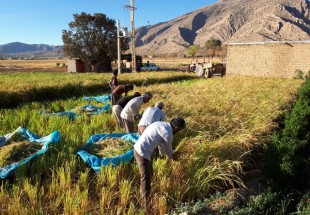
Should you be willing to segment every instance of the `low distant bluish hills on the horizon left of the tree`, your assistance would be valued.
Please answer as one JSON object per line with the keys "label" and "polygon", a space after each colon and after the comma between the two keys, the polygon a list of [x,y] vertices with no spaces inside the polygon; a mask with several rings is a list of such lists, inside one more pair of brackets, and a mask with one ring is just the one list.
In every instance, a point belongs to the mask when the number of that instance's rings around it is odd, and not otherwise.
{"label": "low distant bluish hills on the horizon left of the tree", "polygon": [[46,44],[25,44],[13,42],[0,45],[0,56],[13,57],[61,57],[62,46],[51,46]]}

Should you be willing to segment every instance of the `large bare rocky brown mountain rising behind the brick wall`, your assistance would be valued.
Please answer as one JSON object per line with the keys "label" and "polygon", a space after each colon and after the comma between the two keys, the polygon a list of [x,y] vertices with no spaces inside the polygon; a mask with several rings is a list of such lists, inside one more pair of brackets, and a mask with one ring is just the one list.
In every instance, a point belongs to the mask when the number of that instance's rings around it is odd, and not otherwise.
{"label": "large bare rocky brown mountain rising behind the brick wall", "polygon": [[309,0],[221,0],[136,30],[140,55],[182,54],[211,37],[227,42],[310,40]]}

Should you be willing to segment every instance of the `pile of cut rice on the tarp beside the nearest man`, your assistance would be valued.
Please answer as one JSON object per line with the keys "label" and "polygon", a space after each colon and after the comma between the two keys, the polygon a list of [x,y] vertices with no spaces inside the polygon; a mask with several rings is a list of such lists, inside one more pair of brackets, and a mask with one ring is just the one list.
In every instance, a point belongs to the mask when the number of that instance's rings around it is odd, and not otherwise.
{"label": "pile of cut rice on the tarp beside the nearest man", "polygon": [[98,157],[115,157],[132,149],[132,143],[122,138],[107,138],[91,145],[87,151]]}

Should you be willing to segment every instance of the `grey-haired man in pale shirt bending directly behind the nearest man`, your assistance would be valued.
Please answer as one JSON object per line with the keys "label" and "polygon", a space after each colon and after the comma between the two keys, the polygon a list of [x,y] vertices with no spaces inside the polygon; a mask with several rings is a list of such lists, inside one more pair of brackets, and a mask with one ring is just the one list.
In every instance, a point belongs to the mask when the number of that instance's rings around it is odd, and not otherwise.
{"label": "grey-haired man in pale shirt bending directly behind the nearest man", "polygon": [[157,121],[165,121],[166,116],[162,109],[164,108],[163,102],[156,102],[155,107],[148,107],[144,110],[142,118],[138,124],[138,132],[141,135],[147,126]]}

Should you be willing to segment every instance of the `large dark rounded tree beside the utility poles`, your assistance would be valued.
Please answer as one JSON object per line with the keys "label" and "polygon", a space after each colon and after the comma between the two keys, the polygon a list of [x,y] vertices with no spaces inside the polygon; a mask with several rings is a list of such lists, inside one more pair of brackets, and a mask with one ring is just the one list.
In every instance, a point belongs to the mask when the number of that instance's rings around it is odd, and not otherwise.
{"label": "large dark rounded tree beside the utility poles", "polygon": [[[98,67],[111,70],[111,61],[117,59],[117,27],[115,21],[106,15],[73,14],[70,30],[62,31],[64,54],[80,58],[91,65],[92,71]],[[122,50],[128,49],[126,38],[121,38]]]}

